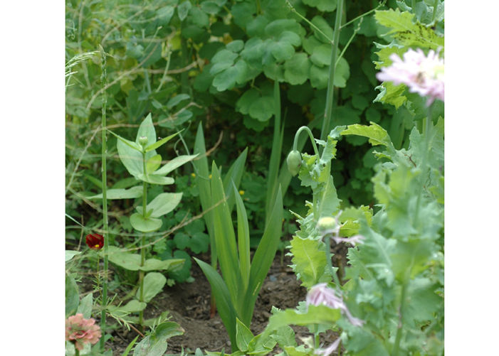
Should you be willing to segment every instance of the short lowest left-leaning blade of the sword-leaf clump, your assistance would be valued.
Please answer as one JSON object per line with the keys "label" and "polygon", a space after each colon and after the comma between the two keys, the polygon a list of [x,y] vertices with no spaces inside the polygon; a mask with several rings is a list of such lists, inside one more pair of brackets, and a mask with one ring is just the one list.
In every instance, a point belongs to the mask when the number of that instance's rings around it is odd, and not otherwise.
{"label": "short lowest left-leaning blade of the sword-leaf clump", "polygon": [[213,291],[216,300],[216,310],[219,311],[220,318],[224,323],[224,326],[229,334],[232,345],[237,345],[236,341],[236,309],[231,301],[231,296],[229,294],[229,289],[227,288],[224,280],[218,274],[218,272],[206,264],[204,261],[196,259],[194,260],[199,264],[199,267],[203,271],[206,279],[208,279],[211,286],[211,291]]}

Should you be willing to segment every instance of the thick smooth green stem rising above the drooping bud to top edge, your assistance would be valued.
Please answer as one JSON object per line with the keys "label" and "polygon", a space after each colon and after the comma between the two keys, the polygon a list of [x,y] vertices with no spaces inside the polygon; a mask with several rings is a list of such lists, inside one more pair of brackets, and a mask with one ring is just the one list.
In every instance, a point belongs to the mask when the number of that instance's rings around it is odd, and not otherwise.
{"label": "thick smooth green stem rising above the drooping bud to top edge", "polygon": [[336,54],[338,51],[338,42],[340,41],[340,23],[342,21],[343,0],[338,0],[336,7],[335,33],[332,36],[331,63],[329,68],[329,80],[327,80],[327,95],[326,108],[324,112],[324,120],[322,120],[322,129],[320,131],[320,139],[325,140],[330,128],[332,116],[332,102],[335,96],[335,73],[336,73]]}

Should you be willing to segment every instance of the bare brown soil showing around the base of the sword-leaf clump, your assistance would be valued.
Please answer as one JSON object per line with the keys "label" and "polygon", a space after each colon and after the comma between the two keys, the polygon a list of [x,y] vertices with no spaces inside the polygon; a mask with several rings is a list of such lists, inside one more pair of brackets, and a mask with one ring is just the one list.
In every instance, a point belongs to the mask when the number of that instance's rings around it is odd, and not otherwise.
{"label": "bare brown soil showing around the base of the sword-leaf clump", "polygon": [[[209,261],[209,254],[197,257]],[[295,308],[298,302],[305,300],[307,290],[300,286],[300,281],[296,279],[290,264],[292,264],[290,257],[283,257],[280,252],[275,255],[256,300],[251,321],[253,335],[261,333],[266,328],[273,306],[280,309]],[[165,287],[162,293],[155,296],[145,310],[145,318],[155,318],[164,311],[169,311],[169,320],[178,323],[184,329],[183,335],[169,338],[167,355],[180,355],[182,350],[184,355],[194,354],[198,347],[202,351],[230,352],[229,335],[220,316],[217,313],[214,318],[210,318],[210,285],[196,263],[192,264],[191,276],[194,278],[193,282]],[[298,345],[303,344],[301,339],[312,336],[306,327],[291,326],[295,330]],[[109,331],[112,333],[112,340],[106,342],[106,349],[111,347],[113,355],[122,355],[127,345],[137,335],[134,330],[129,331],[125,327]],[[329,331],[321,335],[321,343],[329,345],[336,338],[337,334]],[[280,352],[282,350],[276,345],[273,352],[268,355],[277,355]]]}

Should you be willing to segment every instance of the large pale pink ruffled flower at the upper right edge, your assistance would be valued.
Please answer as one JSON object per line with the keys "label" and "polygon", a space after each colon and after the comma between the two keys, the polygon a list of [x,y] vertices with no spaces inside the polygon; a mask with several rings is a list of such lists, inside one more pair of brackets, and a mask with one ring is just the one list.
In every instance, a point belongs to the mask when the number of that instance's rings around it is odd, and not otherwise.
{"label": "large pale pink ruffled flower at the upper right edge", "polygon": [[421,48],[409,49],[404,53],[404,60],[395,53],[389,58],[393,63],[377,73],[378,80],[394,82],[394,85],[404,83],[409,87],[409,92],[428,97],[426,105],[435,99],[443,101],[443,59],[438,58],[438,52],[430,50],[426,56]]}

